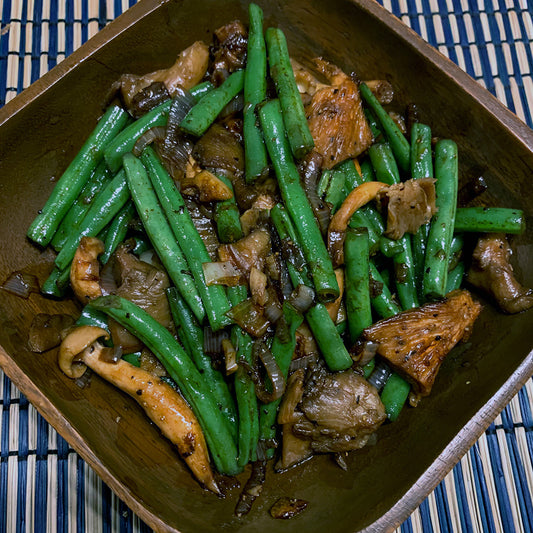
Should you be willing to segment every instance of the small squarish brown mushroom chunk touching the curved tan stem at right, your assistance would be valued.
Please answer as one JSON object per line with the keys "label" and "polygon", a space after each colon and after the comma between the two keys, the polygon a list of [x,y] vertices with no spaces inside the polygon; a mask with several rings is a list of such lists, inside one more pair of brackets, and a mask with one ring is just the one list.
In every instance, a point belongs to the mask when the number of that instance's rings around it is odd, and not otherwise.
{"label": "small squarish brown mushroom chunk touching the curved tan stem at right", "polygon": [[382,189],[376,201],[387,212],[385,235],[401,239],[405,233],[416,233],[436,213],[433,178],[407,180]]}

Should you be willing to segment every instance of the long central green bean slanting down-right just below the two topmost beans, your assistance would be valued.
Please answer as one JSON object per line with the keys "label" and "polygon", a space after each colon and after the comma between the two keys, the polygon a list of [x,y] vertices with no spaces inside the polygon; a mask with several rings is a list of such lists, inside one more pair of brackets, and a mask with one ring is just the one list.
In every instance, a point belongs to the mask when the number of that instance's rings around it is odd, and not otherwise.
{"label": "long central green bean slanting down-right just below the two topmost beans", "polygon": [[300,175],[285,135],[279,102],[271,100],[263,105],[259,116],[267,150],[278,178],[281,197],[300,237],[318,299],[335,300],[339,296],[337,278],[313,210],[300,184]]}

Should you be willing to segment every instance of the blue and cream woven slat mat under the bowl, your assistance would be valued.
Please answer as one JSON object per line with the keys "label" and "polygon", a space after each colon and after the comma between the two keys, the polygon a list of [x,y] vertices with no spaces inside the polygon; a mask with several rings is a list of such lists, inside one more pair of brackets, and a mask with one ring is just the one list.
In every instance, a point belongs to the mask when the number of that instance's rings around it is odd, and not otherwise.
{"label": "blue and cream woven slat mat under the bowl", "polygon": [[[381,0],[533,126],[530,0]],[[135,0],[0,0],[0,106]],[[0,373],[0,533],[150,531]],[[533,530],[530,381],[402,532]]]}

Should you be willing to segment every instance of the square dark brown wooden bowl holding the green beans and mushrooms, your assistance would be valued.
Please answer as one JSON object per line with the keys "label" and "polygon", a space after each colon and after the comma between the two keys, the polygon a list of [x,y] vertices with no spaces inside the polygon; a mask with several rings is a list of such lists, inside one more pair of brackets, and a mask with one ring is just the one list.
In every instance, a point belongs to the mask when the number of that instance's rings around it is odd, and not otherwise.
{"label": "square dark brown wooden bowl holding the green beans and mushrooms", "polygon": [[[514,239],[519,275],[533,285],[533,133],[488,92],[372,0],[260,2],[266,22],[286,31],[292,55],[323,55],[363,79],[386,77],[399,105],[416,102],[435,135],[455,139],[462,174],[481,171],[485,201],[523,209],[526,235]],[[15,270],[43,281],[52,255],[25,232],[92,130],[111,83],[123,72],[171,64],[196,39],[241,18],[247,2],[144,0],[0,110],[0,281]],[[245,518],[199,488],[140,409],[93,377],[78,388],[56,354],[26,348],[37,312],[74,312],[72,302],[0,291],[0,364],[44,417],[106,483],[159,531],[385,531],[399,525],[460,459],[533,373],[532,313],[507,316],[490,304],[468,344],[445,361],[433,394],[383,427],[376,446],[354,453],[347,472],[326,457],[285,474],[269,471]],[[528,355],[529,354],[529,355]],[[268,514],[279,496],[303,498],[292,521]]]}

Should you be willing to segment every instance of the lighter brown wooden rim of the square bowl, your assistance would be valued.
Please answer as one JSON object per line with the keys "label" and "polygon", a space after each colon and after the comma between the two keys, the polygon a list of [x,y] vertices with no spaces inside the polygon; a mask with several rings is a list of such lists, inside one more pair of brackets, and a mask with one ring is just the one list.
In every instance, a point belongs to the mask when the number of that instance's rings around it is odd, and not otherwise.
{"label": "lighter brown wooden rim of the square bowl", "polygon": [[[134,6],[110,22],[71,55],[61,61],[61,63],[0,108],[0,127],[16,116],[20,110],[38,99],[65,75],[75,70],[80,63],[90,59],[103,46],[128,30],[141,18],[174,1],[176,0],[139,0]],[[521,144],[524,149],[533,152],[533,130],[458,65],[433,48],[414,30],[406,26],[377,1],[346,1],[384,23],[415,53],[423,55],[432,66],[436,67],[442,74],[461,86],[467,94],[475,98],[488,113],[506,128],[515,138],[515,141]],[[146,508],[140,498],[136,497],[127,486],[114,477],[108,467],[102,463],[98,456],[85,443],[83,436],[68,423],[61,411],[40,392],[32,379],[22,372],[16,361],[2,346],[0,346],[0,367],[2,367],[5,374],[28,398],[45,420],[67,440],[72,448],[95,470],[98,476],[133,512],[156,531],[174,533],[179,531],[169,526],[150,509]],[[360,533],[389,532],[401,525],[461,460],[465,453],[489,427],[494,418],[505,408],[512,397],[517,394],[532,375],[533,349],[500,387],[497,393],[470,418],[426,471],[407,489],[400,500],[374,523],[360,530]]]}

